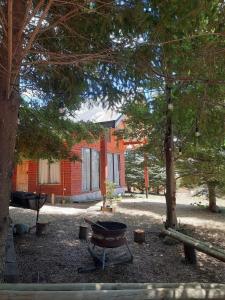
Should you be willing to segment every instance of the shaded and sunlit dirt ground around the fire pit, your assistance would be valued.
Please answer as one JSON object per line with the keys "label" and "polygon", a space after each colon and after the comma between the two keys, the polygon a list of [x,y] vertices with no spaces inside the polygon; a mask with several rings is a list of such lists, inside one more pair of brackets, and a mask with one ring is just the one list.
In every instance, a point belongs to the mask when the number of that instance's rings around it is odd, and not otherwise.
{"label": "shaded and sunlit dirt ground around the fire pit", "polygon": [[[201,203],[199,203],[201,201]],[[179,223],[193,230],[192,235],[225,249],[225,212],[210,213],[207,202],[191,197],[189,192],[177,195]],[[219,201],[225,211],[225,201]],[[99,211],[101,203],[70,206],[45,205],[40,221],[49,222],[46,234],[37,237],[34,231],[15,237],[15,247],[21,282],[225,282],[225,264],[199,253],[197,266],[182,262],[181,244],[165,245],[159,237],[165,220],[165,198],[149,196],[126,198],[115,214]],[[14,223],[34,225],[35,212],[11,208]],[[127,238],[133,253],[133,263],[108,267],[104,271],[79,273],[80,267],[92,267],[93,259],[87,243],[78,239],[83,218],[116,220],[128,226]],[[146,231],[146,243],[133,242],[133,231]],[[122,249],[117,248],[116,251]],[[108,250],[109,257],[113,254]]]}

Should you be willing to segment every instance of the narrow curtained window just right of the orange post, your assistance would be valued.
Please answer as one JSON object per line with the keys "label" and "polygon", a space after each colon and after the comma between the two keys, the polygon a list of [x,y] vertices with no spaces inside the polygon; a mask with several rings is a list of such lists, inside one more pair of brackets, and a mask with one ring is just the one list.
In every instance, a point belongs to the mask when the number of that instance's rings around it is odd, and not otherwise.
{"label": "narrow curtained window just right of the orange post", "polygon": [[107,180],[120,185],[120,155],[107,153]]}

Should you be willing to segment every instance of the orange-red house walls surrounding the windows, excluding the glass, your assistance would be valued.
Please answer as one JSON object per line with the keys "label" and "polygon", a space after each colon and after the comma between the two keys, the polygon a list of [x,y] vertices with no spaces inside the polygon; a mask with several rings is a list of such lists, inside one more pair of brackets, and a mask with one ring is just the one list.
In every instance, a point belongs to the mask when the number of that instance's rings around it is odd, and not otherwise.
{"label": "orange-red house walls surrounding the windows, excluding the glass", "polygon": [[[107,152],[120,154],[120,187],[125,187],[125,159],[123,141],[117,141],[113,135],[115,129],[110,129],[109,141],[107,142]],[[100,151],[100,140],[88,144],[83,141],[72,147],[72,152],[81,158],[82,148],[91,148]],[[61,181],[59,184],[39,184],[38,183],[38,161],[29,161],[28,166],[28,191],[36,193],[55,194],[57,196],[72,196],[73,200],[77,195],[79,199],[91,199],[101,197],[100,191],[89,193],[82,192],[82,163],[81,161],[70,162],[61,161]],[[16,190],[16,170],[13,176],[13,190]],[[92,194],[92,195],[90,195]],[[77,199],[77,200],[79,200]]]}

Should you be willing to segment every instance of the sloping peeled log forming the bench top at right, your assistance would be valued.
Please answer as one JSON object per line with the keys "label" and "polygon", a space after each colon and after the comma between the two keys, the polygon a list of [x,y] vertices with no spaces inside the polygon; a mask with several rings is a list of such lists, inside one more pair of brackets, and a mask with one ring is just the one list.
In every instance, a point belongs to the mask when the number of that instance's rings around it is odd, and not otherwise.
{"label": "sloping peeled log forming the bench top at right", "polygon": [[201,242],[171,228],[164,230],[164,233],[168,236],[173,237],[174,239],[181,241],[186,245],[194,247],[200,252],[206,253],[218,260],[225,262],[225,251],[219,247],[215,247],[210,243]]}

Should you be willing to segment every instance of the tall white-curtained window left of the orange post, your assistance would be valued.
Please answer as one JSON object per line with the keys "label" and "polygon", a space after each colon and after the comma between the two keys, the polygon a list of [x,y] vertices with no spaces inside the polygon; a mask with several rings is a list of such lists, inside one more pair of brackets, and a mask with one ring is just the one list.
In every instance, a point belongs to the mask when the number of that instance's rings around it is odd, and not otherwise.
{"label": "tall white-curtained window left of the orange post", "polygon": [[99,189],[99,152],[82,149],[82,191]]}

